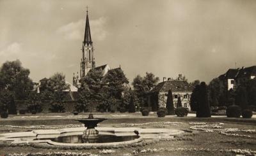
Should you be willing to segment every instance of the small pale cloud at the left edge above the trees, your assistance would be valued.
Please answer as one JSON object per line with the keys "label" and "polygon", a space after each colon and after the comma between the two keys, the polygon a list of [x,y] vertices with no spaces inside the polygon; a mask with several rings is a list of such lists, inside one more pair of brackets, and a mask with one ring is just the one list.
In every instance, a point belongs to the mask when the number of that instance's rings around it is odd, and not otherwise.
{"label": "small pale cloud at the left edge above the trees", "polygon": [[21,52],[21,44],[14,42],[2,50],[0,50],[0,56],[10,56],[10,55],[17,55]]}

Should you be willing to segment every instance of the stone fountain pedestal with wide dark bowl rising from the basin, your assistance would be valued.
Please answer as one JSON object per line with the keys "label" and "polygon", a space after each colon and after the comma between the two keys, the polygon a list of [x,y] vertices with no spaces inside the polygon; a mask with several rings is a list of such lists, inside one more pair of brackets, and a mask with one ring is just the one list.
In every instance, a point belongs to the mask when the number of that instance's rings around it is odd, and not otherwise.
{"label": "stone fountain pedestal with wide dark bowl rising from the basin", "polygon": [[97,138],[99,136],[99,131],[95,129],[97,124],[107,120],[106,118],[93,118],[93,114],[89,114],[88,118],[79,118],[77,121],[84,124],[84,127],[87,127],[86,130],[83,131],[83,142],[84,143],[95,143],[97,142]]}

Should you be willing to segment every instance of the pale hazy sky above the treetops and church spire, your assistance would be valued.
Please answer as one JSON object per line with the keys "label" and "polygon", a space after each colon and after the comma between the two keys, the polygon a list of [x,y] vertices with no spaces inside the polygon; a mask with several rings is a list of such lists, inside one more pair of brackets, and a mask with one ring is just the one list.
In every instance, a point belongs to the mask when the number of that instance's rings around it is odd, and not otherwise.
{"label": "pale hazy sky above the treetops and church spire", "polygon": [[72,82],[82,56],[86,6],[96,66],[133,78],[185,75],[209,82],[256,65],[253,0],[0,0],[0,66],[19,59],[34,82]]}

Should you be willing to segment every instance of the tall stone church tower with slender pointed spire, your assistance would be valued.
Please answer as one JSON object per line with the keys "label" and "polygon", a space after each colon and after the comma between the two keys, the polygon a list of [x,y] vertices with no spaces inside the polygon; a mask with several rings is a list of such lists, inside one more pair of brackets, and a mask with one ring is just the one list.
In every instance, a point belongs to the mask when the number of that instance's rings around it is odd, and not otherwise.
{"label": "tall stone church tower with slender pointed spire", "polygon": [[82,47],[83,56],[81,59],[80,77],[86,76],[90,69],[95,68],[95,59],[93,57],[93,43],[90,31],[88,10],[86,10],[86,24],[84,31],[84,41]]}

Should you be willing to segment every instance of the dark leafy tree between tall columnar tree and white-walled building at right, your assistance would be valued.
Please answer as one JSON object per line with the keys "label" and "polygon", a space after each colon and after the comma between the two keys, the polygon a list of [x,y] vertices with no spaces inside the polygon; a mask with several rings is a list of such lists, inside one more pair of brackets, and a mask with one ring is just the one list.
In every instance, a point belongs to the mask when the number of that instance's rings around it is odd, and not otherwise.
{"label": "dark leafy tree between tall columnar tree and white-walled building at right", "polygon": [[221,95],[223,95],[224,90],[225,87],[219,78],[214,78],[213,80],[211,80],[208,85],[210,106],[220,105]]}

